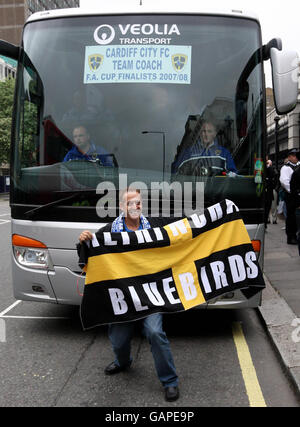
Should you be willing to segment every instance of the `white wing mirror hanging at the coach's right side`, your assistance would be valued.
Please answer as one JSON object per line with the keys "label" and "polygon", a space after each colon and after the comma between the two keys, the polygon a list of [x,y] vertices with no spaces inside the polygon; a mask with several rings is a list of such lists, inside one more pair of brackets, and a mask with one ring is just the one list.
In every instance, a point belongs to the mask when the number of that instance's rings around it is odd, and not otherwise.
{"label": "white wing mirror hanging at the coach's right side", "polygon": [[297,104],[298,67],[297,52],[271,48],[274,100],[277,114],[287,114]]}

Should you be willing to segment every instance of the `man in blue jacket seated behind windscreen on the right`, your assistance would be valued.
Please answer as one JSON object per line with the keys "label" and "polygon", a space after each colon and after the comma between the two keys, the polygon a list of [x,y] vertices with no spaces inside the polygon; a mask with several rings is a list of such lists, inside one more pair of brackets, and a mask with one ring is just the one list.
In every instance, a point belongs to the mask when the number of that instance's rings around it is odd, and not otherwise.
{"label": "man in blue jacket seated behind windscreen on the right", "polygon": [[172,173],[184,175],[216,175],[223,171],[237,173],[229,151],[218,144],[217,130],[212,121],[204,121],[200,139],[191,147],[178,153],[171,166]]}

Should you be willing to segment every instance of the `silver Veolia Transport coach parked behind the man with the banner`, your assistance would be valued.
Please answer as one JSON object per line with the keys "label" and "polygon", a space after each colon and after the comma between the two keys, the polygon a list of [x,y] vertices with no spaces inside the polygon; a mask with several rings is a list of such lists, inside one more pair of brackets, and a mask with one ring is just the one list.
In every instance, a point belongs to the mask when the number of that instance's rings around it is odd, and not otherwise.
{"label": "silver Veolia Transport coach parked behind the man with the banner", "polygon": [[[255,14],[164,0],[43,11],[28,18],[20,46],[1,41],[0,54],[18,61],[10,188],[15,298],[80,304],[75,244],[82,230],[96,231],[118,214],[121,181],[138,182],[155,215],[164,215],[169,201],[171,218],[184,199],[175,183],[183,193],[189,188],[191,209],[201,191],[204,207],[232,200],[262,265],[263,64],[271,60],[276,109],[284,114],[296,104],[298,60],[280,39],[262,44]],[[208,118],[218,166],[199,153],[180,163]],[[238,291],[208,307],[256,307],[260,299]]]}

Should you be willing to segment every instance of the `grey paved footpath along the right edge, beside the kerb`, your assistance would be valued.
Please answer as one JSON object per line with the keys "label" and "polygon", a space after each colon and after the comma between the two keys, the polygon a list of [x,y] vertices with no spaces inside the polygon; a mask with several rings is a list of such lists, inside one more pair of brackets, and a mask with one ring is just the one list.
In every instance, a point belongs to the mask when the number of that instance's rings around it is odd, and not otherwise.
{"label": "grey paved footpath along the right edge, beside the kerb", "polygon": [[285,373],[300,397],[300,256],[288,245],[285,222],[268,224],[265,236],[263,291],[259,312]]}

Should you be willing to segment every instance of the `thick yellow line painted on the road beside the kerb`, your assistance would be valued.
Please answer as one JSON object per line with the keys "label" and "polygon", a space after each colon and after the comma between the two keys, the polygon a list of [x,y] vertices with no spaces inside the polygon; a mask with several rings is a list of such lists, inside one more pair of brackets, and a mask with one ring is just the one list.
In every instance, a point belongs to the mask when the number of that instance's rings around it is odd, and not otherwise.
{"label": "thick yellow line painted on the road beside the kerb", "polygon": [[239,322],[232,324],[232,333],[250,406],[266,407],[249,347],[243,334],[242,325]]}

